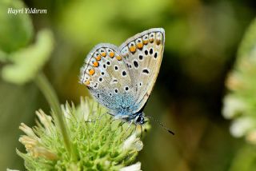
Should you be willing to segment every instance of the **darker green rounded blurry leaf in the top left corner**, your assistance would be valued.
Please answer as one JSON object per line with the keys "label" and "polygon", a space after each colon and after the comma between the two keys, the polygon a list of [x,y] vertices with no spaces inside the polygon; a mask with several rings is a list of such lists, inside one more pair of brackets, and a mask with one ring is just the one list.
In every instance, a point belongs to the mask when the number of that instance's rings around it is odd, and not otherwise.
{"label": "darker green rounded blurry leaf in the top left corner", "polygon": [[0,50],[10,53],[26,46],[33,38],[33,25],[29,14],[8,14],[8,10],[23,9],[19,0],[0,1]]}

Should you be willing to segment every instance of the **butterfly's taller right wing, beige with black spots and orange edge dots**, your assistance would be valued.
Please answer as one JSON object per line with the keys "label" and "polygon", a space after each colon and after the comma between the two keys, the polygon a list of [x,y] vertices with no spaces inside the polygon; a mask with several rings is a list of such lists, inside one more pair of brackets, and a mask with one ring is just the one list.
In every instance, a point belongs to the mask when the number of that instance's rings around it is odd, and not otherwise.
{"label": "butterfly's taller right wing, beige with black spots and orange edge dots", "polygon": [[162,28],[146,30],[119,47],[135,89],[134,112],[146,104],[158,77],[165,43]]}

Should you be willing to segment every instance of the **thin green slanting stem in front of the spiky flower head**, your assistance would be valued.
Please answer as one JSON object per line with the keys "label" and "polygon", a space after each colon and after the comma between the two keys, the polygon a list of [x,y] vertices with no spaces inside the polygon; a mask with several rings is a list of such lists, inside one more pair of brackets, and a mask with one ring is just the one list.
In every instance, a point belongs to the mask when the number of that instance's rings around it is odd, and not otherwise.
{"label": "thin green slanting stem in front of the spiky flower head", "polygon": [[60,107],[58,97],[57,97],[52,85],[50,85],[50,82],[46,78],[46,75],[43,73],[39,73],[36,76],[34,82],[36,83],[36,85],[38,85],[38,88],[42,91],[42,93],[46,97],[46,100],[48,101],[50,107],[52,108],[52,110],[53,110],[52,115],[54,118],[56,118],[56,120],[58,122],[57,126],[62,133],[62,137],[63,137],[63,141],[64,141],[64,145],[66,147],[66,150],[68,151],[70,156],[73,157],[75,160],[76,155],[74,153],[73,146],[70,142],[69,133],[67,132],[67,129],[66,129],[66,123],[65,123],[65,120],[63,119],[62,109]]}

